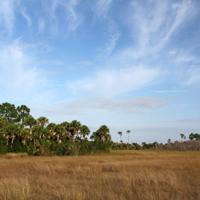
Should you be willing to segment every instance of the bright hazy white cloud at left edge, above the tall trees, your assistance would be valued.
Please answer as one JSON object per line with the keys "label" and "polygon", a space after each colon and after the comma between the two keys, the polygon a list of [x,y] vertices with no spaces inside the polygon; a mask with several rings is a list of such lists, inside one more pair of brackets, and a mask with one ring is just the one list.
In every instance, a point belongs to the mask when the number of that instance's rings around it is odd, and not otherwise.
{"label": "bright hazy white cloud at left edge, above the tall trees", "polygon": [[46,73],[36,65],[37,58],[31,52],[20,41],[0,45],[0,101],[20,100],[31,104],[48,90]]}

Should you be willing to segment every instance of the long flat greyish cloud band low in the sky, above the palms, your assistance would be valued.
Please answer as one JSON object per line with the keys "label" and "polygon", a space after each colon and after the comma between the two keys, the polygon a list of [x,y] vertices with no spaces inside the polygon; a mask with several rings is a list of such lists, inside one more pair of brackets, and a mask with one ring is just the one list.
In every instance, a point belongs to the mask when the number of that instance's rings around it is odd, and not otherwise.
{"label": "long flat greyish cloud band low in the sky, above the palms", "polygon": [[167,105],[167,102],[156,97],[137,97],[131,99],[111,98],[84,98],[67,100],[47,109],[47,112],[61,115],[79,115],[103,111],[107,113],[138,113],[147,110],[159,109]]}

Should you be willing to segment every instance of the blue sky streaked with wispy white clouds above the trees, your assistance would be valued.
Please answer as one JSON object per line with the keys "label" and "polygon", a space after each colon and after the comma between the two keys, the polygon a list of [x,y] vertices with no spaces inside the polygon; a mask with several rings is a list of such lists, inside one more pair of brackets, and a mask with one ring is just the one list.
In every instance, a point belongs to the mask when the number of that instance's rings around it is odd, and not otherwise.
{"label": "blue sky streaked with wispy white clouds above the trees", "polygon": [[112,139],[200,131],[199,0],[0,0],[0,103]]}

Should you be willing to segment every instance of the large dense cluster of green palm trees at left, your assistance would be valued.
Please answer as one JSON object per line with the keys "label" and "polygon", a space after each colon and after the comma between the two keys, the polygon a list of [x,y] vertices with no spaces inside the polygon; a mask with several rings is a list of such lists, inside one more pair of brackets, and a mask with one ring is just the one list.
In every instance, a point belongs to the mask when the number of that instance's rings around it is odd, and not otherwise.
{"label": "large dense cluster of green palm trees at left", "polygon": [[102,125],[90,135],[90,129],[77,120],[50,123],[46,117],[35,119],[25,105],[0,104],[1,153],[77,155],[108,151],[112,143],[109,132]]}

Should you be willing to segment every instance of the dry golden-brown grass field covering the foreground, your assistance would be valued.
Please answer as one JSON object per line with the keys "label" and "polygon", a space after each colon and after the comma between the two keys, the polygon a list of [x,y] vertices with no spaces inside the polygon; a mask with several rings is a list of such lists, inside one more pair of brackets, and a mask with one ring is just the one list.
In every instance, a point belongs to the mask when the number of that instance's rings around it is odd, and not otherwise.
{"label": "dry golden-brown grass field covering the foreground", "polygon": [[0,157],[0,199],[200,199],[200,152]]}

